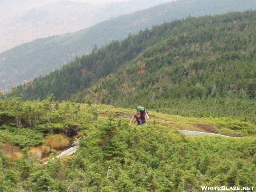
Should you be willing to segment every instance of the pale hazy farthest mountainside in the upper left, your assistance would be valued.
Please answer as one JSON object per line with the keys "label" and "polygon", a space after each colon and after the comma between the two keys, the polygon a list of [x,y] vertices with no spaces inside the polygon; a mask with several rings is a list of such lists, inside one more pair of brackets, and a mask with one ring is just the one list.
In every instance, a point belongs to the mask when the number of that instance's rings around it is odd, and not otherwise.
{"label": "pale hazy farthest mountainside in the upper left", "polygon": [[87,28],[171,0],[0,1],[0,52],[36,38]]}

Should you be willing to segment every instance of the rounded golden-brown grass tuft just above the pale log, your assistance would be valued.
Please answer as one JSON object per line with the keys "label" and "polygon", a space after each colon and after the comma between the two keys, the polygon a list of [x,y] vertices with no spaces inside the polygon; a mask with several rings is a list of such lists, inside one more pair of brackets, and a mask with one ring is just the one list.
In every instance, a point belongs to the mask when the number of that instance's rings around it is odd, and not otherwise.
{"label": "rounded golden-brown grass tuft just above the pale log", "polygon": [[70,143],[70,139],[61,134],[50,135],[44,141],[49,147],[55,149],[63,149]]}

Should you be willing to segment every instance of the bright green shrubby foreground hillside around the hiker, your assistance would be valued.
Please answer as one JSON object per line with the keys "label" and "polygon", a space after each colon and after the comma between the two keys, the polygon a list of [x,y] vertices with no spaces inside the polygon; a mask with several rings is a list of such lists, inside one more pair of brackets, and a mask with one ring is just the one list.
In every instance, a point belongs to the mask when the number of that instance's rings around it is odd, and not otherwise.
{"label": "bright green shrubby foreground hillside around the hiker", "polygon": [[[188,118],[22,98],[0,99],[0,191],[200,192],[201,186],[256,186],[256,126],[233,118]],[[178,130],[232,137],[186,137]],[[72,146],[73,156],[51,160]],[[47,165],[43,162],[49,160]]]}

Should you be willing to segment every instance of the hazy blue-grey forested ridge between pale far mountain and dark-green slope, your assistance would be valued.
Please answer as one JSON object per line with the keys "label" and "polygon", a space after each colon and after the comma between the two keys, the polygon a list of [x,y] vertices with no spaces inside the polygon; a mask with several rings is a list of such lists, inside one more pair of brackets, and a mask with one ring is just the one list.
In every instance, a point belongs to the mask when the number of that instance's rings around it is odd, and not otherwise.
{"label": "hazy blue-grey forested ridge between pale far mountain and dark-green slope", "polygon": [[255,0],[177,0],[130,15],[99,23],[75,33],[38,39],[0,54],[0,89],[12,86],[60,68],[76,54],[88,54],[112,40],[152,25],[184,17],[256,9]]}

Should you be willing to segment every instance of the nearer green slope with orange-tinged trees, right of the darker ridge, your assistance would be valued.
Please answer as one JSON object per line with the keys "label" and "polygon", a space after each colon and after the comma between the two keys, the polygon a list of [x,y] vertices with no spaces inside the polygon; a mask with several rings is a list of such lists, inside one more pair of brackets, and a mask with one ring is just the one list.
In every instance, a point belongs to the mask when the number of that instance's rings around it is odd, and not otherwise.
{"label": "nearer green slope with orange-tinged trees, right of the darker ridge", "polygon": [[116,106],[143,104],[167,113],[247,116],[256,122],[255,18],[256,12],[188,18],[183,32],[173,29],[72,99],[84,102],[96,93],[97,101]]}

